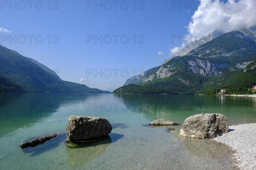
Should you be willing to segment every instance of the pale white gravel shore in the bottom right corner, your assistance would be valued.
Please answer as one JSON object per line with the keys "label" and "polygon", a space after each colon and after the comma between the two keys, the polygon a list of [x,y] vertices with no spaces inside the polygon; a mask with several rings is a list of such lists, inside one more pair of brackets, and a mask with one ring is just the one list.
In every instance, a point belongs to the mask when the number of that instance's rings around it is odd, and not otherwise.
{"label": "pale white gravel shore in the bottom right corner", "polygon": [[234,163],[241,170],[256,170],[256,123],[229,126],[229,132],[213,138],[232,147]]}

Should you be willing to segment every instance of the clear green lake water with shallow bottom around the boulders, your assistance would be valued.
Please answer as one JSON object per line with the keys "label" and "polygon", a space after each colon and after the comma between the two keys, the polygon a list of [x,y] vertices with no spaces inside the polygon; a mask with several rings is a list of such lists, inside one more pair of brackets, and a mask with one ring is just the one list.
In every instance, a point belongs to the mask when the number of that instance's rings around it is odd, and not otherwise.
{"label": "clear green lake water with shallow bottom around the boulders", "polygon": [[[182,124],[198,113],[222,113],[229,125],[256,122],[256,98],[112,94],[0,94],[0,169],[233,169],[232,151],[149,127],[155,119]],[[69,148],[63,133],[27,149],[35,136],[64,132],[69,116],[99,116],[113,124],[110,137]]]}

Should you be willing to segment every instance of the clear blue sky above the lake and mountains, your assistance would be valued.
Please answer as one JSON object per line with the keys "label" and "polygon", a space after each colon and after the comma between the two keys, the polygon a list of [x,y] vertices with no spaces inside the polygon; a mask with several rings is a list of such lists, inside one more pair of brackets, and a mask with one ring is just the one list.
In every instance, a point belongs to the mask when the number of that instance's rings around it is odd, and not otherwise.
{"label": "clear blue sky above the lake and mountains", "polygon": [[[208,6],[198,17],[199,1],[171,0],[42,0],[31,4],[1,0],[0,5],[1,45],[58,70],[63,80],[109,91],[135,74],[160,65],[186,44],[174,40],[174,36],[207,35],[211,29],[201,31],[197,24],[207,23],[200,21],[200,15],[214,16],[221,11]],[[232,16],[234,11],[230,9],[229,13]],[[217,17],[219,20],[224,19]],[[236,22],[228,26],[235,28]],[[251,21],[244,21],[242,26],[248,23]]]}

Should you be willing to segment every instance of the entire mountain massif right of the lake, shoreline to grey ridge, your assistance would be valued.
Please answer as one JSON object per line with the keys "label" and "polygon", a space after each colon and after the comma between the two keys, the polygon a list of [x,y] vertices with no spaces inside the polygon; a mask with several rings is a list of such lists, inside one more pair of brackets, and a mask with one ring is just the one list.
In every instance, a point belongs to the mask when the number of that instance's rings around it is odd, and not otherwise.
{"label": "entire mountain massif right of the lake, shoreline to grey ridge", "polygon": [[[113,93],[204,94],[220,88],[227,88],[230,93],[247,92],[256,85],[255,37],[255,26],[225,34],[215,31],[189,43],[162,65],[127,79],[124,86]],[[239,81],[243,78],[250,81]]]}

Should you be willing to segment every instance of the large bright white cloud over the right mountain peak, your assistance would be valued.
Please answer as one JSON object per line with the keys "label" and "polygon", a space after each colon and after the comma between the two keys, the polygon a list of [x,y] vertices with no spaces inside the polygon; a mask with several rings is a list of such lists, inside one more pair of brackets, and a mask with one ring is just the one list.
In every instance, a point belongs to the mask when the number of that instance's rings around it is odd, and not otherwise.
{"label": "large bright white cloud over the right mountain peak", "polygon": [[229,32],[256,25],[255,0],[201,0],[186,28],[190,35],[208,35],[218,30]]}

